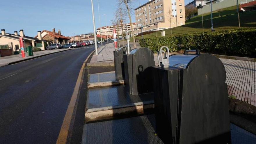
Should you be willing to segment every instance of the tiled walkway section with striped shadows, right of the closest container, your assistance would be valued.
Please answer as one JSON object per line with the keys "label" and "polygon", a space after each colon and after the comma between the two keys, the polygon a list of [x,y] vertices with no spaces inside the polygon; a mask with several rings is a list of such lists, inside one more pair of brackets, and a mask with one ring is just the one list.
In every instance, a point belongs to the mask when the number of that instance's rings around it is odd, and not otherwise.
{"label": "tiled walkway section with striped shadows, right of the closest container", "polygon": [[228,94],[256,106],[256,62],[220,58],[226,69]]}

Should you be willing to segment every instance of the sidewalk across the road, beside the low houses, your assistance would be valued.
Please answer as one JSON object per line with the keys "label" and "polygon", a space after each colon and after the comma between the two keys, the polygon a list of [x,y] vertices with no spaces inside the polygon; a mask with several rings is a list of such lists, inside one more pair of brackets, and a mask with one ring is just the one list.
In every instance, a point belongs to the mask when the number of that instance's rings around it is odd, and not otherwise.
{"label": "sidewalk across the road, beside the low houses", "polygon": [[[71,49],[73,49],[73,48],[71,48]],[[34,54],[33,56],[28,56],[28,53],[26,53],[25,58],[22,58],[21,54],[16,54],[16,55],[12,55],[12,56],[3,56],[3,57],[0,57],[0,67],[6,66],[9,64],[13,64],[13,63],[26,61],[26,60],[33,59],[33,58],[37,58],[40,56],[54,54],[54,53],[61,52],[61,51],[67,51],[67,50],[70,50],[70,49],[53,49],[53,50],[36,51],[36,52],[33,52],[33,54]]]}

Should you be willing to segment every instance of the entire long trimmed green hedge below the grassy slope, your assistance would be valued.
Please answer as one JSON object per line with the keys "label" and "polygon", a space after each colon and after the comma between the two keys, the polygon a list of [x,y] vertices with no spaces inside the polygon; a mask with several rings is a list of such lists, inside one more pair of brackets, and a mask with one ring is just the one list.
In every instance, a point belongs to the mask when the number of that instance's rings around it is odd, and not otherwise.
{"label": "entire long trimmed green hedge below the grassy slope", "polygon": [[153,52],[162,46],[172,47],[175,51],[177,44],[181,44],[185,49],[200,49],[207,53],[256,57],[256,28],[147,38],[139,42],[141,47],[148,47]]}

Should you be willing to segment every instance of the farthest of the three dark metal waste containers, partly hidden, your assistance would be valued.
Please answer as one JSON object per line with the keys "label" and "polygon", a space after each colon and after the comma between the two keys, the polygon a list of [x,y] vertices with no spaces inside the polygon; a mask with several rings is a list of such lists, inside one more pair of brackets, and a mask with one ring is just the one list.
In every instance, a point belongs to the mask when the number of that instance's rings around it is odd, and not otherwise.
{"label": "farthest of the three dark metal waste containers, partly hidden", "polygon": [[127,53],[127,46],[120,47],[117,51],[113,52],[115,64],[115,77],[117,77],[118,79],[125,79],[123,55]]}

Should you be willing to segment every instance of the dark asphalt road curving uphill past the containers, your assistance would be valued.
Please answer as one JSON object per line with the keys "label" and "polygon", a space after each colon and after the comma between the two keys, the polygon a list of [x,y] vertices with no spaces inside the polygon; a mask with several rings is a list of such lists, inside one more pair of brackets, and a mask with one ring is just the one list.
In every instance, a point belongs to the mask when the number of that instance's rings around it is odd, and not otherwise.
{"label": "dark asphalt road curving uphill past the containers", "polygon": [[93,50],[90,45],[0,67],[0,143],[56,143]]}

